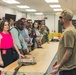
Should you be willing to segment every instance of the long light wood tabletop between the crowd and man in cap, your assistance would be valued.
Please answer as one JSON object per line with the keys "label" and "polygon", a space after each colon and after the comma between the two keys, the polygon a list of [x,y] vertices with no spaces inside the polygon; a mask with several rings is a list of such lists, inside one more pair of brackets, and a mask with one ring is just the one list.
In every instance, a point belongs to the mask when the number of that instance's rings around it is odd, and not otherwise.
{"label": "long light wood tabletop between the crowd and man in cap", "polygon": [[[28,57],[35,57],[37,64],[22,66],[17,75],[45,75],[54,56],[57,53],[58,42],[50,42],[42,45],[43,48],[37,48],[30,52]],[[5,67],[2,72],[5,75],[13,75],[14,69],[18,66],[17,61]]]}

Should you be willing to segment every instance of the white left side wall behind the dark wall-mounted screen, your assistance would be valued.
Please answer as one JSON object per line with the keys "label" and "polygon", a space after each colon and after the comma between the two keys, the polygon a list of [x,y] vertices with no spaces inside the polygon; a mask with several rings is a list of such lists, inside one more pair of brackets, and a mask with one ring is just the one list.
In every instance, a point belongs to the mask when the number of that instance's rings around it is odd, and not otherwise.
{"label": "white left side wall behind the dark wall-mounted screen", "polygon": [[1,18],[4,17],[5,13],[16,15],[16,20],[18,20],[22,17],[26,17],[25,13],[22,13],[18,10],[14,10],[14,9],[11,9],[11,8],[8,8],[8,7],[5,7],[5,6],[0,6],[0,17]]}

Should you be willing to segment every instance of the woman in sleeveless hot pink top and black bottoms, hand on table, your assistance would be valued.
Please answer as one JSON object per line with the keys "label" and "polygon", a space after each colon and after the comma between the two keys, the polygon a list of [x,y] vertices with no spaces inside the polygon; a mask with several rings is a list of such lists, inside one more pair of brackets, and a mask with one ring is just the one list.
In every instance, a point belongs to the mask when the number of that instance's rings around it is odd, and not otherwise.
{"label": "woman in sleeveless hot pink top and black bottoms, hand on table", "polygon": [[24,57],[20,54],[9,29],[10,27],[8,21],[2,21],[0,24],[0,67],[3,68],[13,62],[13,47],[20,57]]}

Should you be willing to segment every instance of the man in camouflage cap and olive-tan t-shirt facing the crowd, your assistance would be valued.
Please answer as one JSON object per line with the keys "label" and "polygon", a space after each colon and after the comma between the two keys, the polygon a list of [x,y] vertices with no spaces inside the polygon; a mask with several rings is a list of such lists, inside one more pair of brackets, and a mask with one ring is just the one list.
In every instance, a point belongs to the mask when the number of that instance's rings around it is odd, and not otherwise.
{"label": "man in camouflage cap and olive-tan t-shirt facing the crowd", "polygon": [[59,42],[57,60],[53,64],[52,75],[76,75],[76,29],[72,25],[73,13],[69,9],[61,12],[59,19],[65,31]]}

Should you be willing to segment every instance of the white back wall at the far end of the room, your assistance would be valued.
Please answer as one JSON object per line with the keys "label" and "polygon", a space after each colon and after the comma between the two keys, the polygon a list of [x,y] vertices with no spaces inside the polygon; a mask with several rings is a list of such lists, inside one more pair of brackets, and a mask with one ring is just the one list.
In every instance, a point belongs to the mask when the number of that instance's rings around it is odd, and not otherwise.
{"label": "white back wall at the far end of the room", "polygon": [[58,32],[58,19],[59,18],[55,14],[45,14],[43,16],[27,14],[27,19],[32,19],[33,21],[34,20],[42,20],[42,19],[44,19],[45,16],[47,17],[47,19],[45,19],[45,24],[50,29],[50,32],[52,32],[52,31]]}

